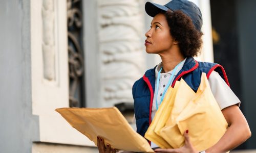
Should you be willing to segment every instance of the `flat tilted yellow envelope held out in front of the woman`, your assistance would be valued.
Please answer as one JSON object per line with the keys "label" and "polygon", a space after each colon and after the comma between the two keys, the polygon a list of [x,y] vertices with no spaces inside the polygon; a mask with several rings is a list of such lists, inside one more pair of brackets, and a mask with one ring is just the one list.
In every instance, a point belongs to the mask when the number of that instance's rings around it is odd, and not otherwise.
{"label": "flat tilted yellow envelope held out in front of the woman", "polygon": [[113,108],[61,108],[56,109],[76,130],[97,145],[97,136],[105,144],[135,152],[154,152],[150,144],[136,133],[116,107]]}

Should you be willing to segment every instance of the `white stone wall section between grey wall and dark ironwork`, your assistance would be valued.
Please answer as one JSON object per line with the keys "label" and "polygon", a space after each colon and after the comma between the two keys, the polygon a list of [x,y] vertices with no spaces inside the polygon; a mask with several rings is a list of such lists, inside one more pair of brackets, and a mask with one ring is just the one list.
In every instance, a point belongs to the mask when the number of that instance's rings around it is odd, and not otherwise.
{"label": "white stone wall section between grey wall and dark ironwork", "polygon": [[32,113],[38,116],[39,142],[94,146],[55,109],[69,107],[67,2],[32,0]]}

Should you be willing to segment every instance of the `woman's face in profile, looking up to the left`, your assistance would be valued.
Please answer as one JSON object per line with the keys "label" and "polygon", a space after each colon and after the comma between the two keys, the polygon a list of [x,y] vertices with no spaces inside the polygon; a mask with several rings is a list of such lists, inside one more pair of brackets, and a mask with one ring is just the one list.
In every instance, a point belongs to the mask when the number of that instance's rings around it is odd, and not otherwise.
{"label": "woman's face in profile, looking up to the left", "polygon": [[146,53],[161,54],[171,49],[174,44],[167,20],[162,13],[153,18],[151,29],[146,32],[145,36]]}

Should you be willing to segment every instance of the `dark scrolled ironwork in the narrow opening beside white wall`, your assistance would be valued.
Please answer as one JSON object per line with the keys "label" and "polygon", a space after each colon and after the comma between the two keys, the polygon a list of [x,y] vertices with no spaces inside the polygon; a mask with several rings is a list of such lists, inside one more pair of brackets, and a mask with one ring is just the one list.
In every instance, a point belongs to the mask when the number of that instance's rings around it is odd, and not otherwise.
{"label": "dark scrolled ironwork in the narrow opening beside white wall", "polygon": [[70,107],[84,107],[81,6],[80,0],[67,0]]}

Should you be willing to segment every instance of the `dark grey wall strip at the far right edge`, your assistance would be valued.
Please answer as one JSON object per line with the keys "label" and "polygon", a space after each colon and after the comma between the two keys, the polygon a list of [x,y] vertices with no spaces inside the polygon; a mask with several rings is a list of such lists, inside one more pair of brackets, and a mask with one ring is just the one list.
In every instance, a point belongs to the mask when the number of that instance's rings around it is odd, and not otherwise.
{"label": "dark grey wall strip at the far right edge", "polygon": [[256,148],[256,1],[237,0],[239,52],[244,114],[252,136],[246,148]]}

